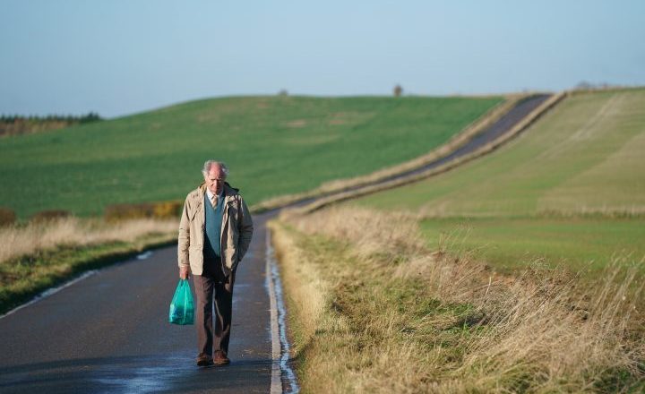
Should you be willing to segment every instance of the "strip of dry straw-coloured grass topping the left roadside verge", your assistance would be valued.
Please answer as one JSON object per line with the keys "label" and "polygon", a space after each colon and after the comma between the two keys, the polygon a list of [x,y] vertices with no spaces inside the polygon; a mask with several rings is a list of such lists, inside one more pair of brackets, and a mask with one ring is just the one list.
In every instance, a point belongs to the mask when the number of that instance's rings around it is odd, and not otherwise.
{"label": "strip of dry straw-coloured grass topping the left roadside verge", "polygon": [[60,245],[133,242],[149,234],[176,231],[176,219],[134,219],[106,223],[98,219],[58,218],[25,226],[0,227],[0,262]]}

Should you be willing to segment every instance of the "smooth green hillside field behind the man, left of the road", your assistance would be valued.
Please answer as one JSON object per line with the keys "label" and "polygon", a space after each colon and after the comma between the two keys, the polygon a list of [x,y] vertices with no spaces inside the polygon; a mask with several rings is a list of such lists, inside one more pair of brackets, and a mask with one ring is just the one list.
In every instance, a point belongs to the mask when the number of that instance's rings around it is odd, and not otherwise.
{"label": "smooth green hillside field behind the man, left of the road", "polygon": [[205,99],[0,139],[0,207],[102,213],[183,199],[207,158],[251,204],[370,173],[434,149],[502,98]]}

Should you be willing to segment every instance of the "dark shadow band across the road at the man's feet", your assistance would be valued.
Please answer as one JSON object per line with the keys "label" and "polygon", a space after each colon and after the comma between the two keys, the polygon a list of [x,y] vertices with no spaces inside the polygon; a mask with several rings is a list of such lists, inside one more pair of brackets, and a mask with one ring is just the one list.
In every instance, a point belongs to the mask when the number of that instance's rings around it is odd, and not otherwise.
{"label": "dark shadow band across the road at the man's feet", "polygon": [[[0,392],[254,392],[258,374],[271,380],[271,360],[232,360],[198,368],[193,355],[132,355],[80,358],[0,369]],[[204,389],[208,388],[208,389]]]}

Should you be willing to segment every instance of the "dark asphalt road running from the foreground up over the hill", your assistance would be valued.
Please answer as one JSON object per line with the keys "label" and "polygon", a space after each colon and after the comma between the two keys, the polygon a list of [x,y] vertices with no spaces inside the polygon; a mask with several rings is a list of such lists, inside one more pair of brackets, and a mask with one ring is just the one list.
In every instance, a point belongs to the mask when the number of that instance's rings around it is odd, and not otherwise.
{"label": "dark asphalt road running from the foreground up over the hill", "polygon": [[[545,99],[521,102],[456,155],[510,130]],[[275,214],[254,215],[253,242],[237,270],[230,365],[197,368],[194,326],[168,323],[178,280],[176,247],[169,246],[99,270],[1,318],[0,393],[269,392],[264,224]]]}

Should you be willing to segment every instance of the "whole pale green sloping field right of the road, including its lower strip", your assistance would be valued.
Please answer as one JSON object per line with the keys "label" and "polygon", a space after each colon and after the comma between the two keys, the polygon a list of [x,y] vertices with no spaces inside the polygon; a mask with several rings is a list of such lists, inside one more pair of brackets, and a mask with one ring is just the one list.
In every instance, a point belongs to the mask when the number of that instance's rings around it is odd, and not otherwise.
{"label": "whole pale green sloping field right of the road, including its lower strip", "polygon": [[484,158],[350,203],[420,212],[431,244],[443,234],[504,267],[540,258],[600,267],[615,254],[638,262],[643,152],[645,90],[577,93]]}

